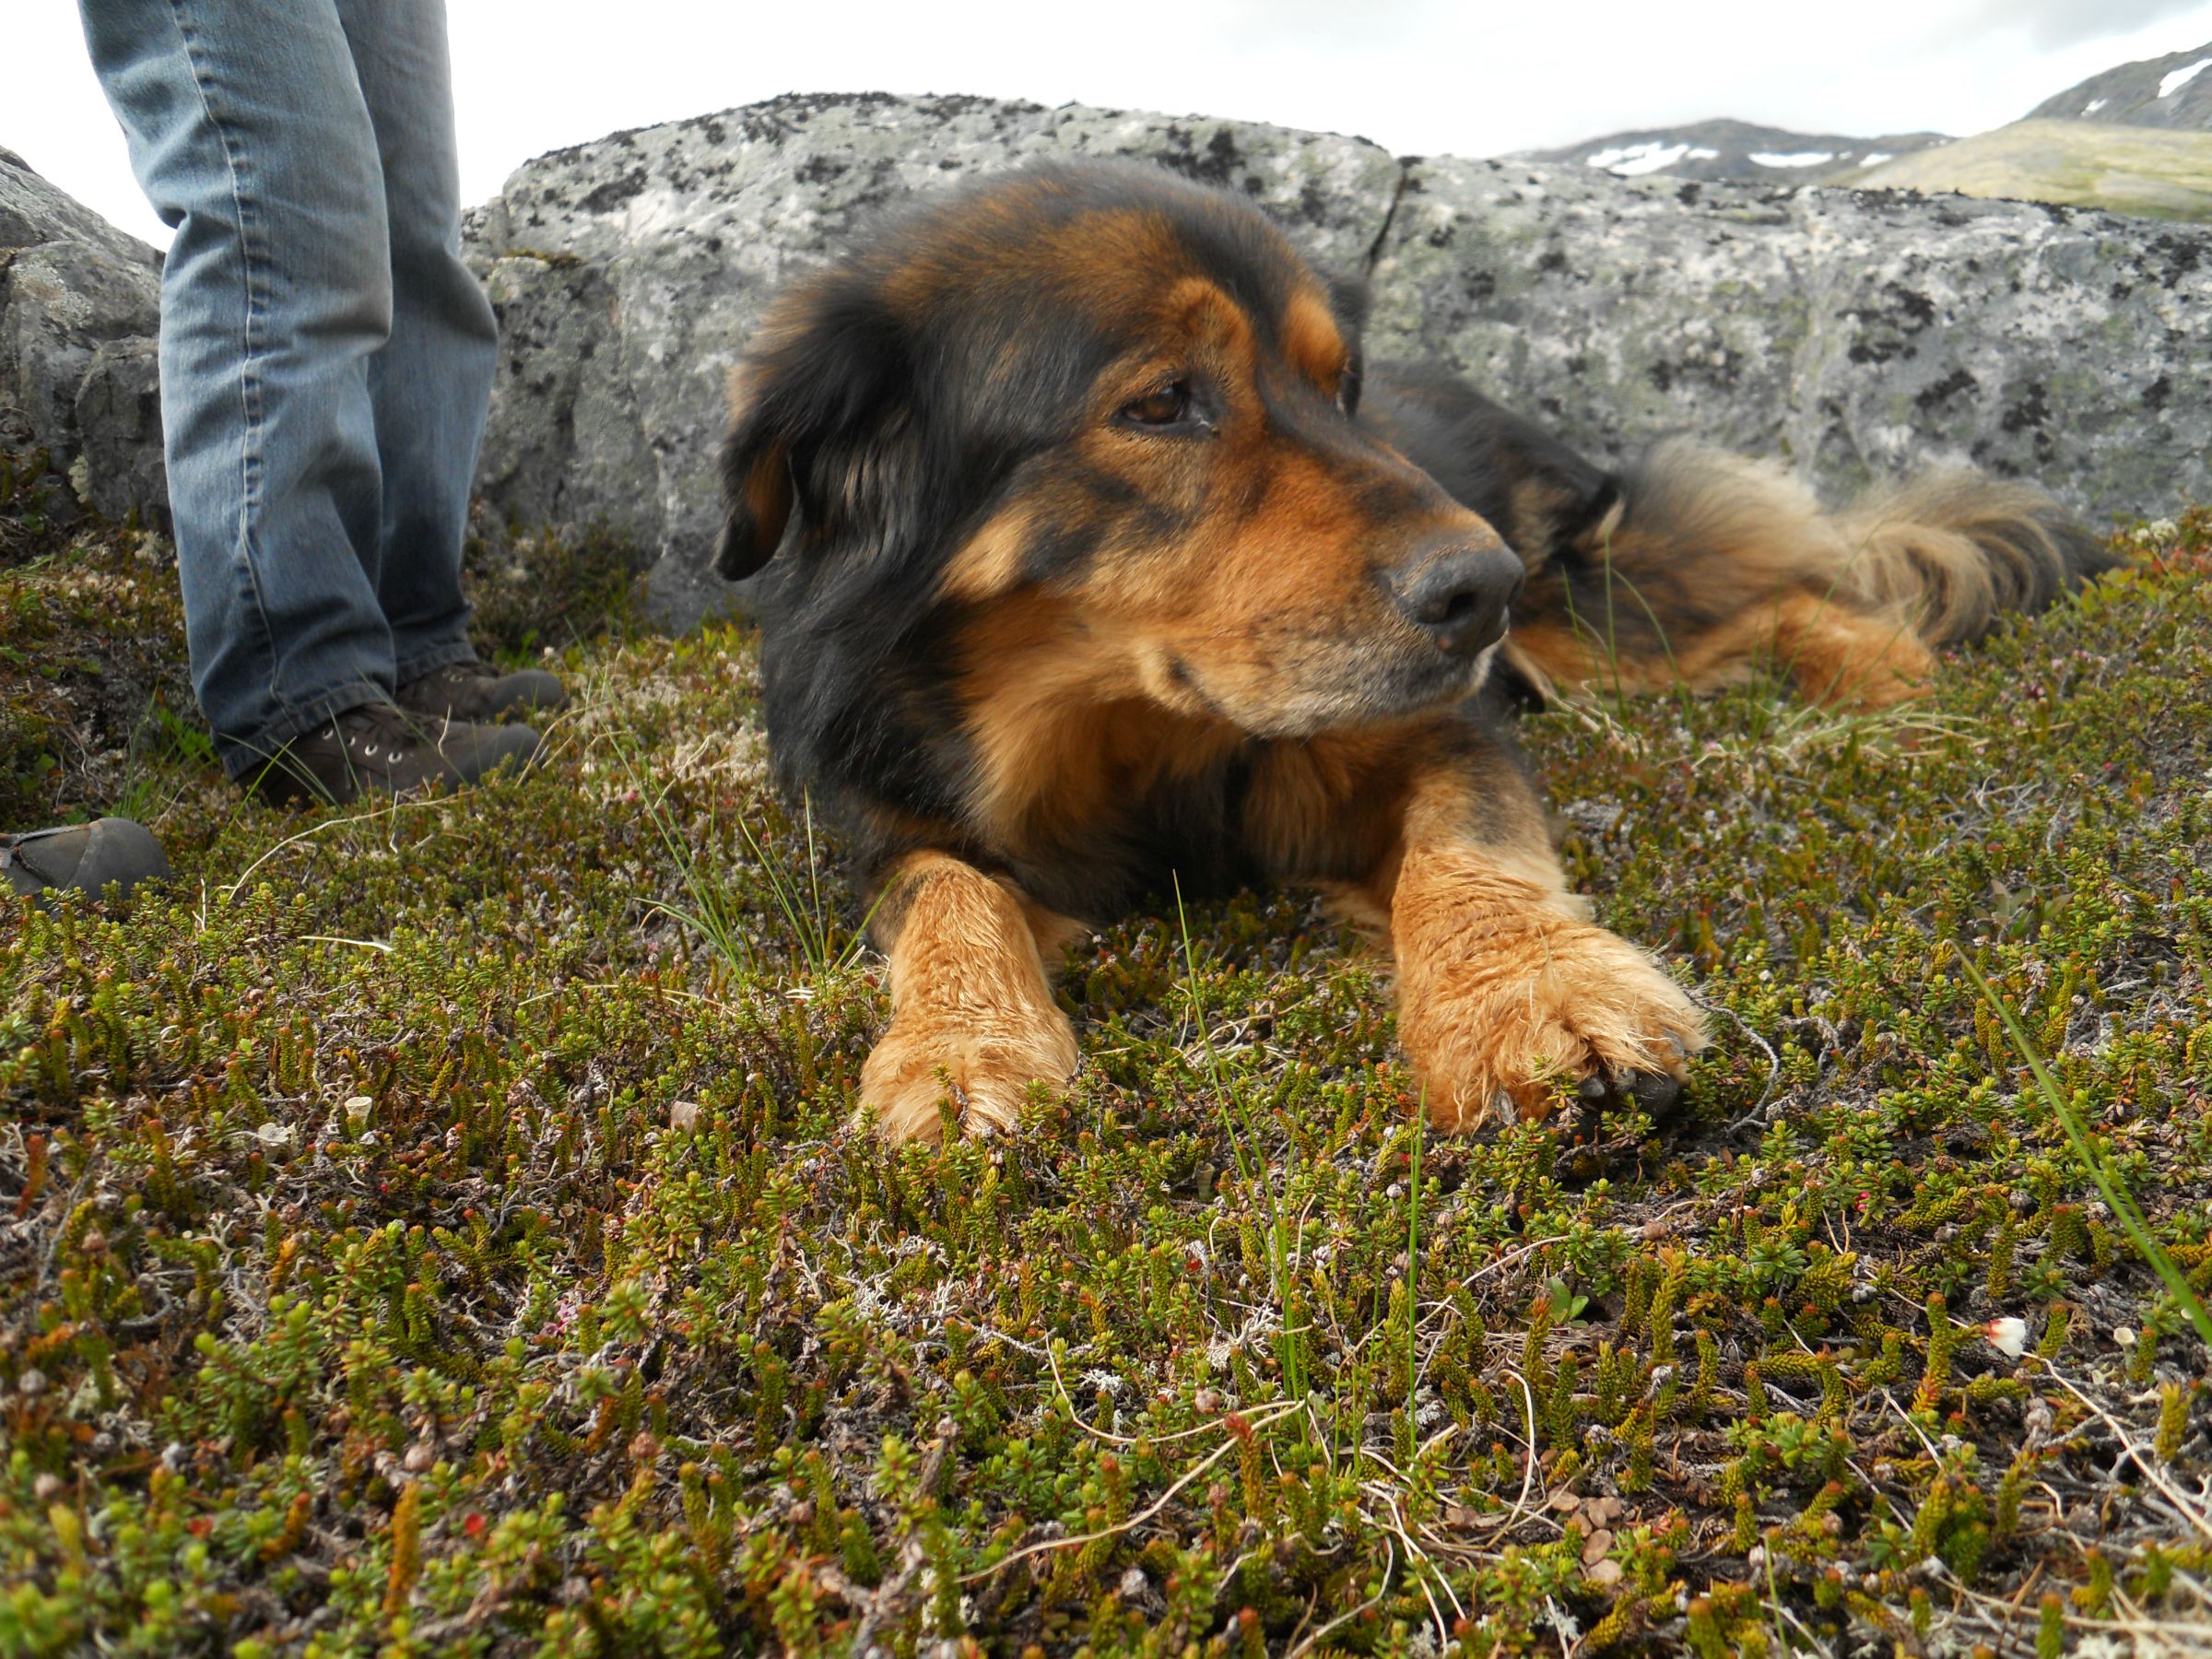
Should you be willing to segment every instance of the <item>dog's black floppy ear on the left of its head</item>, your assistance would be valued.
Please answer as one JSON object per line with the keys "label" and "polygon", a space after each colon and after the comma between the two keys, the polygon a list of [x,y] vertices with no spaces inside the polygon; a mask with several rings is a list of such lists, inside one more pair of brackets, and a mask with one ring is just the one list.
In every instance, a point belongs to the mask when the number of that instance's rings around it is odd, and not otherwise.
{"label": "dog's black floppy ear on the left of its head", "polygon": [[785,529],[810,551],[856,542],[880,555],[918,540],[931,469],[907,358],[905,330],[860,272],[832,272],[779,307],[732,376],[721,575],[759,571]]}

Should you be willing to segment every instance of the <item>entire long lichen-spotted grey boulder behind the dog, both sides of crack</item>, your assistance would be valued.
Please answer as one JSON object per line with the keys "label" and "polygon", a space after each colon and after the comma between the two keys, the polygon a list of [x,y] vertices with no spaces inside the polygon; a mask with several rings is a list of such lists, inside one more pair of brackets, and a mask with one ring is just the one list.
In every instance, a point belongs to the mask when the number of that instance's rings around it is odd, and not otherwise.
{"label": "entire long lichen-spotted grey boulder behind the dog, both sides of crack", "polygon": [[1378,354],[1453,363],[1599,456],[1686,431],[1829,489],[1973,460],[2099,518],[2212,489],[2212,405],[2190,389],[2212,319],[2203,230],[867,95],[617,133],[531,161],[473,215],[507,330],[484,495],[641,542],[666,624],[730,604],[708,568],[712,458],[765,296],[885,204],[1044,155],[1243,190],[1316,259],[1371,274]]}

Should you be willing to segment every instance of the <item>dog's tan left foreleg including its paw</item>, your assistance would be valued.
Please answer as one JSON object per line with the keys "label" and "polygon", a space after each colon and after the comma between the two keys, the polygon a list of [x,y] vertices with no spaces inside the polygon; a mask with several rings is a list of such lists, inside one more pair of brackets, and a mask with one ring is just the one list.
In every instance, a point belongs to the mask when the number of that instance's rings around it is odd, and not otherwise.
{"label": "dog's tan left foreleg including its paw", "polygon": [[1057,956],[1066,918],[947,854],[911,854],[891,876],[891,1024],[860,1068],[860,1102],[894,1141],[933,1141],[942,1102],[969,1133],[1009,1130],[1031,1082],[1064,1084],[1075,1031],[1053,1002],[1040,936]]}

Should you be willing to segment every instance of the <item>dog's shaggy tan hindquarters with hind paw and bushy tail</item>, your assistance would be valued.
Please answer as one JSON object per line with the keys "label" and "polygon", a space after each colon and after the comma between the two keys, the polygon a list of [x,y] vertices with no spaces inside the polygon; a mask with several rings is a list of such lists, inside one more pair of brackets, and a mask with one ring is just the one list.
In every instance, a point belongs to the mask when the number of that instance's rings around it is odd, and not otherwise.
{"label": "dog's shaggy tan hindquarters with hind paw and bushy tail", "polygon": [[2110,566],[2051,495],[1929,471],[1827,511],[1790,471],[1670,440],[1528,575],[1509,659],[1546,684],[1721,686],[1781,661],[1823,701],[1916,695],[1931,650]]}

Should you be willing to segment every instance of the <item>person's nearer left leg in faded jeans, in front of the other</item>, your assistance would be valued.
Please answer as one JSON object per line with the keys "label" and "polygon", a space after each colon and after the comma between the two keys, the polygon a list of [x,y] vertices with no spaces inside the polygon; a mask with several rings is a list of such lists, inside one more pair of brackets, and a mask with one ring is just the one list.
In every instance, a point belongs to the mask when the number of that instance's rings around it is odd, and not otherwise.
{"label": "person's nearer left leg in faded jeans, in front of the other", "polygon": [[332,0],[82,0],[177,237],[161,425],[192,686],[232,776],[394,686],[369,358],[392,330],[376,131]]}

